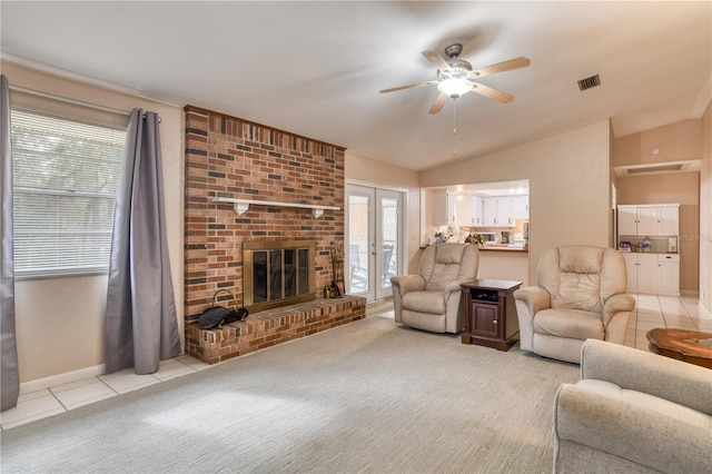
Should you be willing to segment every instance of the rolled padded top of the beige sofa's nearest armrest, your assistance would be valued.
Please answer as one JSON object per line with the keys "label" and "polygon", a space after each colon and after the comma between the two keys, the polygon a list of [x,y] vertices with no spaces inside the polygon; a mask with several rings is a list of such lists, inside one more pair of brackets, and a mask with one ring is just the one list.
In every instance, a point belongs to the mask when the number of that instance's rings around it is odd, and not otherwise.
{"label": "rolled padded top of the beige sofa's nearest armrest", "polygon": [[570,441],[659,472],[709,472],[712,437],[703,425],[562,384],[554,403],[554,471],[566,448],[562,442]]}

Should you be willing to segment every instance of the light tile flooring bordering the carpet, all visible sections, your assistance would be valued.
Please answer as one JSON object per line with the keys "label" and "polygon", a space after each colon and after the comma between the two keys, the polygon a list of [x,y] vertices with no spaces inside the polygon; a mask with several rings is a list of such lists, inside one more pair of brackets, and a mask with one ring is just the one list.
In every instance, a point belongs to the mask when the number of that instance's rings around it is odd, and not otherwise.
{"label": "light tile flooring bordering the carpet, all visible sections", "polygon": [[[636,308],[629,323],[626,346],[647,350],[645,333],[655,327],[669,327],[712,333],[712,315],[698,305],[696,297],[633,295]],[[393,300],[374,303],[366,308],[367,316],[393,317]],[[7,429],[24,423],[56,415],[100,399],[109,398],[174,377],[202,371],[209,365],[181,355],[160,363],[152,375],[136,375],[134,369],[110,375],[89,377],[70,384],[20,395],[18,406],[0,414],[0,428]]]}

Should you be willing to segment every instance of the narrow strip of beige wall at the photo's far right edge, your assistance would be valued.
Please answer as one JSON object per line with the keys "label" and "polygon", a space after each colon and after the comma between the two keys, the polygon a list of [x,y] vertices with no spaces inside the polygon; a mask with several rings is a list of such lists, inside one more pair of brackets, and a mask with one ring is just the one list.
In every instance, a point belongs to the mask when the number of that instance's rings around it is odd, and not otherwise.
{"label": "narrow strip of beige wall at the photo's far right edge", "polygon": [[702,117],[700,167],[700,304],[712,312],[712,101]]}

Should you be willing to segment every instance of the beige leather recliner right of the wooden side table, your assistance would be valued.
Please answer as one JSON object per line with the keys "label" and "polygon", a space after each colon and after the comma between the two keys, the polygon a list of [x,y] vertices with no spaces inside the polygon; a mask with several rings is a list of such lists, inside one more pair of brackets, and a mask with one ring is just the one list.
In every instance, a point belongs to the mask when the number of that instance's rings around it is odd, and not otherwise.
{"label": "beige leather recliner right of the wooden side table", "polygon": [[589,245],[546,249],[537,284],[514,292],[523,350],[578,364],[589,338],[625,343],[635,299],[625,295],[620,251]]}

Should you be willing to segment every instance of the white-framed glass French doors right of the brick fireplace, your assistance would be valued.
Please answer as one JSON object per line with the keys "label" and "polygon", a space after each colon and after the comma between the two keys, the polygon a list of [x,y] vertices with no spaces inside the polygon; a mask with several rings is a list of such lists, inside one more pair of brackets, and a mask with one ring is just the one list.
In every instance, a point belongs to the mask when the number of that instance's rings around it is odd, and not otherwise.
{"label": "white-framed glass French doors right of the brick fireplace", "polygon": [[392,296],[403,267],[403,192],[346,186],[346,293],[375,302]]}

